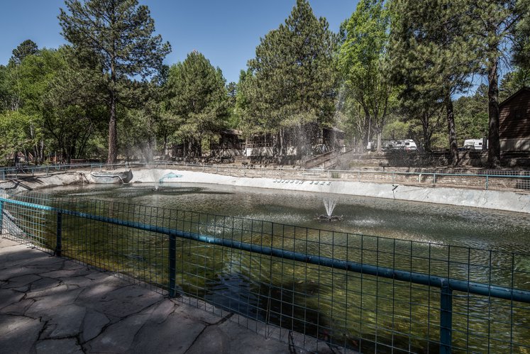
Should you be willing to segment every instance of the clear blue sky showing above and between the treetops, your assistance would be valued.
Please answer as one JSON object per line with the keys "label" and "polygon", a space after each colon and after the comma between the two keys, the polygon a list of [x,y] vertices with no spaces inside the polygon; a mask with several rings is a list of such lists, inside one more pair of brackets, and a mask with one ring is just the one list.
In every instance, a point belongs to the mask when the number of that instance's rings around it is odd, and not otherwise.
{"label": "clear blue sky showing above and between the treetops", "polygon": [[[355,11],[357,0],[309,0],[317,17],[327,18],[332,31]],[[182,61],[192,50],[202,52],[221,67],[227,82],[238,81],[239,72],[254,57],[260,38],[289,16],[295,0],[140,0],[149,6],[156,32],[172,45],[167,64]],[[39,48],[65,43],[57,15],[64,0],[1,0],[0,64],[11,51],[31,39]]]}

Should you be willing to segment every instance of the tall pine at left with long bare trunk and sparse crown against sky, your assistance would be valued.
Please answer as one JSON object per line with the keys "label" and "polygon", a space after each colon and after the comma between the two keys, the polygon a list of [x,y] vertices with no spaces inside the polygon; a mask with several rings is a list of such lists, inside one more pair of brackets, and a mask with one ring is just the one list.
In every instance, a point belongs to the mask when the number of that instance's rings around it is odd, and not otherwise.
{"label": "tall pine at left with long bare trunk and sparse crown against sky", "polygon": [[79,56],[96,55],[107,77],[109,101],[109,155],[117,157],[116,104],[121,99],[121,78],[145,78],[162,65],[170,44],[153,35],[155,23],[147,6],[138,0],[66,0],[59,22],[62,35]]}

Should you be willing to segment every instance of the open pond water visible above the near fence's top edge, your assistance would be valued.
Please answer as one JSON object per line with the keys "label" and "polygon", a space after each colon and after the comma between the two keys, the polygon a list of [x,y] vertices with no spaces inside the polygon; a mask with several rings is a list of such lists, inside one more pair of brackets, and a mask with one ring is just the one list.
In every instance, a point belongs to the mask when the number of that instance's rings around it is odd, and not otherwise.
{"label": "open pond water visible above the near fence's top edge", "polygon": [[[158,187],[158,186],[157,186]],[[344,196],[219,184],[88,184],[46,189],[57,196],[122,201],[238,216],[308,228],[530,253],[530,215],[509,211],[427,204],[397,199]],[[339,222],[322,223],[325,199],[336,201]]]}

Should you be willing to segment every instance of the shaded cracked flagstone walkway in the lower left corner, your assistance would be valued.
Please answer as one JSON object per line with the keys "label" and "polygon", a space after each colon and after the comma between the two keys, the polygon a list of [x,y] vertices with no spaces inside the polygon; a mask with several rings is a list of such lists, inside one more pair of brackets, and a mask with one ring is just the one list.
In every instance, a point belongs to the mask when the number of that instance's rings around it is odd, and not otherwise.
{"label": "shaded cracked flagstone walkway in the lower left corner", "polygon": [[0,237],[0,353],[340,353],[210,309]]}

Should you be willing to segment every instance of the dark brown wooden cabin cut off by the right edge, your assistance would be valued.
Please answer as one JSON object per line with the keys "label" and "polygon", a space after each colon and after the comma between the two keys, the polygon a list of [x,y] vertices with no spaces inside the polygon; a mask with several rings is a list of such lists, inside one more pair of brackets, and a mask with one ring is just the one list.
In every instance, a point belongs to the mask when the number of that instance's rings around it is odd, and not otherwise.
{"label": "dark brown wooden cabin cut off by the right edge", "polygon": [[530,151],[530,87],[523,87],[499,104],[502,151]]}

